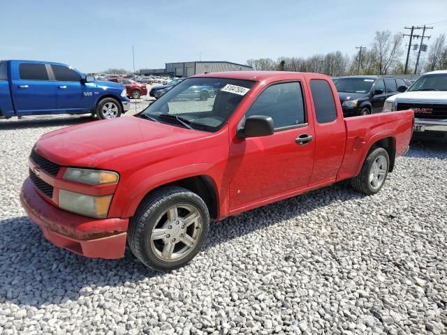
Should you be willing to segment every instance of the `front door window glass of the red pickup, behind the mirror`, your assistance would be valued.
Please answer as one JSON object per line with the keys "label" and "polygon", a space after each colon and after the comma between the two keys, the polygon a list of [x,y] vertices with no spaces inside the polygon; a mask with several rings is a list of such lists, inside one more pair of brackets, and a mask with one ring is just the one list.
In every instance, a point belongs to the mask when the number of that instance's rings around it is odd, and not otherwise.
{"label": "front door window glass of the red pickup, behind the mirror", "polygon": [[305,105],[300,82],[273,84],[261,93],[245,117],[266,115],[272,117],[274,129],[288,128],[305,123]]}

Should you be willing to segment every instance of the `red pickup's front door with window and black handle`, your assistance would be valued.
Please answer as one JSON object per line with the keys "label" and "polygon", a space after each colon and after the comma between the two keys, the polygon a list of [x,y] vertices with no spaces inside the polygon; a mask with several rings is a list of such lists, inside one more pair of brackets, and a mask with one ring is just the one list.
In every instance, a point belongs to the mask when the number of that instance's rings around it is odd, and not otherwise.
{"label": "red pickup's front door with window and black handle", "polygon": [[[305,188],[312,174],[314,126],[306,114],[302,81],[279,82],[266,87],[245,117],[267,115],[274,134],[239,139],[230,144],[230,212]],[[243,121],[242,121],[243,122]]]}

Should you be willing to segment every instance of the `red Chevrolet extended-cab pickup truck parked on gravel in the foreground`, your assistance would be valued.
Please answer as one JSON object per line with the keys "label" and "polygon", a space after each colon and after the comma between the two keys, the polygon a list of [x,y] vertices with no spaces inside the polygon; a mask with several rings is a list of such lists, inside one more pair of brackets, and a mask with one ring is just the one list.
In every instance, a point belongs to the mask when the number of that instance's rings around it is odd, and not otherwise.
{"label": "red Chevrolet extended-cab pickup truck parked on gravel in the foreground", "polygon": [[[207,101],[183,99],[213,87]],[[56,246],[147,267],[189,262],[210,221],[351,179],[380,191],[406,152],[413,111],[343,118],[330,77],[197,75],[135,117],[41,137],[29,157],[24,209]]]}

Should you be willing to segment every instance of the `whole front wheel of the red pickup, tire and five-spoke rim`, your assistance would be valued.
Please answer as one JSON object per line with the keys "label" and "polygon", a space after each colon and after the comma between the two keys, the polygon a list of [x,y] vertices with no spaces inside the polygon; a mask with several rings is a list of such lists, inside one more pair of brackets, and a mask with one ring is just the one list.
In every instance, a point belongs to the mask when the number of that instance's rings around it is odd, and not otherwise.
{"label": "whole front wheel of the red pickup, tire and five-spoke rim", "polygon": [[145,266],[168,271],[193,259],[209,229],[210,214],[196,193],[166,187],[140,204],[129,223],[127,241]]}

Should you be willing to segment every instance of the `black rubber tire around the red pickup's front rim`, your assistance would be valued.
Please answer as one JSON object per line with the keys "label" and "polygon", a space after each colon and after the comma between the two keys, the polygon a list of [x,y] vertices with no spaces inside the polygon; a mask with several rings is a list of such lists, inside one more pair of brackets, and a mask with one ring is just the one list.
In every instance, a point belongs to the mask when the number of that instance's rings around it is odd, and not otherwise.
{"label": "black rubber tire around the red pickup's front rim", "polygon": [[[151,246],[152,230],[159,224],[157,219],[170,207],[177,204],[188,204],[200,212],[202,218],[201,232],[197,237],[196,244],[189,253],[176,261],[166,262],[154,253]],[[177,221],[178,222],[178,221]],[[127,232],[127,243],[133,255],[135,255],[146,267],[161,271],[170,271],[183,267],[190,262],[200,251],[210,230],[210,214],[207,205],[196,193],[177,186],[160,188],[143,200],[131,218]],[[169,235],[166,235],[169,237]]]}

